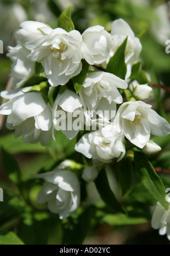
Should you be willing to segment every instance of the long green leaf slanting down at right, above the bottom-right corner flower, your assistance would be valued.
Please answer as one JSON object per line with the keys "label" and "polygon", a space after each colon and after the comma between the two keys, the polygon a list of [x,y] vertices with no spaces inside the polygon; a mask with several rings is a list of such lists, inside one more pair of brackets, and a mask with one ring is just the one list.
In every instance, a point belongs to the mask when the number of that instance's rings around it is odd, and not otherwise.
{"label": "long green leaf slanting down at right, above the bottom-right corner flower", "polygon": [[159,201],[159,203],[167,210],[168,202],[165,200],[166,193],[163,181],[156,174],[154,167],[148,161],[147,156],[142,152],[134,152],[134,163],[141,175],[143,185],[148,192],[155,197],[156,201]]}

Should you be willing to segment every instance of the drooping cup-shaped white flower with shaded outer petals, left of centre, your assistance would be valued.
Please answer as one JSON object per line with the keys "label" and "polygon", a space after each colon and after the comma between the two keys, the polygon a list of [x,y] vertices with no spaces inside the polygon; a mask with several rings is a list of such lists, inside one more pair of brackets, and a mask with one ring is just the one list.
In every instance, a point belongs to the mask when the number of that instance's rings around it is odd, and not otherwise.
{"label": "drooping cup-shaped white flower with shaded outer petals, left of centre", "polygon": [[58,93],[53,105],[54,128],[61,130],[67,138],[74,138],[83,126],[82,106],[80,97],[72,90],[65,89],[64,92]]}

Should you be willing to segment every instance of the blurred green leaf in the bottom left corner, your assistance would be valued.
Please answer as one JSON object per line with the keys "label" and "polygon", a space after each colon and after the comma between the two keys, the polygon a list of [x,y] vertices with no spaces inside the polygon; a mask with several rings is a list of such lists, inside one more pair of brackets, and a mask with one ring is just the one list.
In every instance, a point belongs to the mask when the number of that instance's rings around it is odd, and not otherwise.
{"label": "blurred green leaf in the bottom left corner", "polygon": [[23,245],[13,232],[0,229],[0,245]]}

